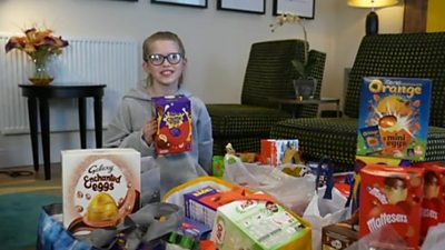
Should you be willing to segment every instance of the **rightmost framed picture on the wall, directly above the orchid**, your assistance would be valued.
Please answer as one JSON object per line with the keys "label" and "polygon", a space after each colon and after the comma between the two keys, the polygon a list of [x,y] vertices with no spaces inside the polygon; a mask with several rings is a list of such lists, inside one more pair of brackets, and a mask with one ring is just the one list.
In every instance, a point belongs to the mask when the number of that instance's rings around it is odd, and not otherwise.
{"label": "rightmost framed picture on the wall, directly above the orchid", "polygon": [[278,16],[284,12],[296,13],[305,19],[314,19],[315,0],[274,0],[273,14]]}

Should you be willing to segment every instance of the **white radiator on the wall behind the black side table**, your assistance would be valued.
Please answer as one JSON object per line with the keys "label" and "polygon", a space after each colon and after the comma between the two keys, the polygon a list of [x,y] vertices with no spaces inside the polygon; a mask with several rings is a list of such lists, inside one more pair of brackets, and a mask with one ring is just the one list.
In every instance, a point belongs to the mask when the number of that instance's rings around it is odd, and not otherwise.
{"label": "white radiator on the wall behind the black side table", "polygon": [[[4,52],[8,36],[0,34],[0,129],[3,134],[29,132],[27,100],[18,87],[28,83],[29,57],[18,50]],[[66,38],[69,46],[49,64],[58,84],[107,84],[103,126],[116,114],[122,94],[138,80],[140,68],[136,41]],[[92,99],[87,99],[87,128],[93,128]],[[77,100],[50,100],[53,131],[78,130]]]}

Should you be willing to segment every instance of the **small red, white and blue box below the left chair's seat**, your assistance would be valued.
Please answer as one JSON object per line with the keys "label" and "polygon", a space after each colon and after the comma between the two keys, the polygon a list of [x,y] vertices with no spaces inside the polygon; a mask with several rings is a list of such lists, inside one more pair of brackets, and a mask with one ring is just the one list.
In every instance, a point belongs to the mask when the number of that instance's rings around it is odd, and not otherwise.
{"label": "small red, white and blue box below the left chair's seat", "polygon": [[295,163],[298,157],[298,139],[261,140],[261,153],[259,157],[261,164],[279,167],[285,163]]}

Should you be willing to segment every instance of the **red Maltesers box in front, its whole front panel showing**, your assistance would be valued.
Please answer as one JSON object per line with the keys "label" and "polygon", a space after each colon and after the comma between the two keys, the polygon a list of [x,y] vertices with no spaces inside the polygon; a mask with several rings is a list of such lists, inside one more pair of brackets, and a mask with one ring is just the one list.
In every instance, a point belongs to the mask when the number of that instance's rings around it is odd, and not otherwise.
{"label": "red Maltesers box in front, its whole front panel showing", "polygon": [[421,168],[363,168],[359,236],[392,226],[406,241],[407,249],[418,249],[423,173]]}

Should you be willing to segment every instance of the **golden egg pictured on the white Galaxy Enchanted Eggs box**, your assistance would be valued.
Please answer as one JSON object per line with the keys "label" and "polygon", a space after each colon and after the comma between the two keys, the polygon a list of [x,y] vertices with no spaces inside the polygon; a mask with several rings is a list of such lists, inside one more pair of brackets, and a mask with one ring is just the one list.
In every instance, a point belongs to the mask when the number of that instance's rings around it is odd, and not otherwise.
{"label": "golden egg pictured on the white Galaxy Enchanted Eggs box", "polygon": [[86,219],[89,224],[102,222],[115,223],[119,217],[119,209],[112,197],[105,192],[99,192],[88,204]]}

